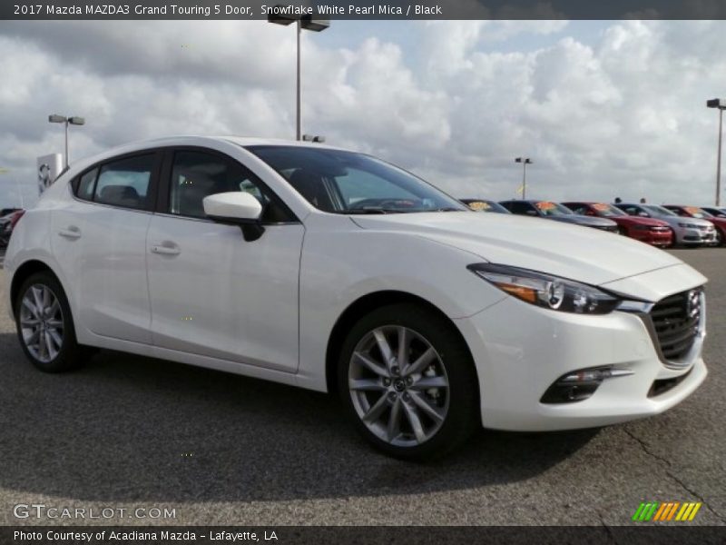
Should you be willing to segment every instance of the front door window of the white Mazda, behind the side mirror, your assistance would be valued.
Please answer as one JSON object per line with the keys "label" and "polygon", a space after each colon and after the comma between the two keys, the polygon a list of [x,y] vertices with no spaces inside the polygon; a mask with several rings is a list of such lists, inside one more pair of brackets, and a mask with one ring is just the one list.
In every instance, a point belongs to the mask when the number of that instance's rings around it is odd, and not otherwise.
{"label": "front door window of the white Mazda, behind the side mirror", "polygon": [[264,222],[288,222],[290,215],[270,198],[260,180],[240,163],[196,151],[174,154],[169,187],[169,213],[205,218],[204,197],[215,193],[250,193],[262,205]]}

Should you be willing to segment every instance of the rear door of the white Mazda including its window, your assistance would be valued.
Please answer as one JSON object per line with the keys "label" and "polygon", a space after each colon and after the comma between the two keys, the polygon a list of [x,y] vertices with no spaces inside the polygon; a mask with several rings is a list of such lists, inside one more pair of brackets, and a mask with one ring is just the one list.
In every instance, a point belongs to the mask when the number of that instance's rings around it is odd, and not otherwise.
{"label": "rear door of the white Mazda including its window", "polygon": [[152,341],[146,232],[160,167],[155,151],[99,163],[53,213],[54,254],[74,293],[77,325],[96,335]]}

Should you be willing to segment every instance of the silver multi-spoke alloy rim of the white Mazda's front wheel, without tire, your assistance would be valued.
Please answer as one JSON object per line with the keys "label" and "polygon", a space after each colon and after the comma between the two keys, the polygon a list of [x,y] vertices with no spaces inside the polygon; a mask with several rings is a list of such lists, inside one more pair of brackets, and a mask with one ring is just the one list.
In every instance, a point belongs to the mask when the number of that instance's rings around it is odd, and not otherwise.
{"label": "silver multi-spoke alloy rim of the white Mazda's front wheel, without tire", "polygon": [[407,327],[363,336],[350,358],[348,390],[360,421],[391,445],[424,443],[446,421],[446,368],[432,344]]}

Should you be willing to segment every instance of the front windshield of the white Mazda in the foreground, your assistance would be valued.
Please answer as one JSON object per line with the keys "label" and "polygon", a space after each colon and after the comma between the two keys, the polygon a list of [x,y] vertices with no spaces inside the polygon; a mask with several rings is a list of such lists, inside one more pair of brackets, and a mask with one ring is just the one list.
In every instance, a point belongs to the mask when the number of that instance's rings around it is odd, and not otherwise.
{"label": "front windshield of the white Mazda in the foreground", "polygon": [[310,204],[324,212],[468,210],[433,185],[370,155],[291,145],[252,145],[246,149],[268,163]]}

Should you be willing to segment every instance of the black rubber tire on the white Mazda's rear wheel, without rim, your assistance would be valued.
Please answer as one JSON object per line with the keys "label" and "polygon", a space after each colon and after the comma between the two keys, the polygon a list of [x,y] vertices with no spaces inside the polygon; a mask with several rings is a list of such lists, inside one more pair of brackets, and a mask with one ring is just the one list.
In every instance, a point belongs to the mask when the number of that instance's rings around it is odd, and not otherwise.
{"label": "black rubber tire on the white Mazda's rear wheel, without rim", "polygon": [[[46,358],[39,357],[28,346],[28,342],[25,339],[25,333],[32,331],[32,328],[24,328],[21,324],[21,317],[24,312],[23,300],[26,294],[29,294],[31,288],[38,289],[44,288],[49,290],[58,302],[60,307],[60,314],[55,314],[55,317],[60,317],[56,322],[61,322],[62,325],[62,342],[60,342],[60,348],[54,357],[50,357],[51,353],[46,352]],[[50,323],[50,320],[47,321]],[[65,372],[71,371],[81,367],[85,361],[90,357],[92,349],[86,349],[86,347],[80,346],[75,339],[75,328],[73,322],[73,316],[71,315],[71,308],[68,305],[68,300],[65,297],[63,287],[60,282],[55,278],[51,272],[36,272],[29,276],[18,291],[15,299],[15,327],[18,335],[18,341],[20,346],[25,352],[25,357],[34,364],[35,367],[44,372]],[[44,332],[44,334],[47,334]]]}

